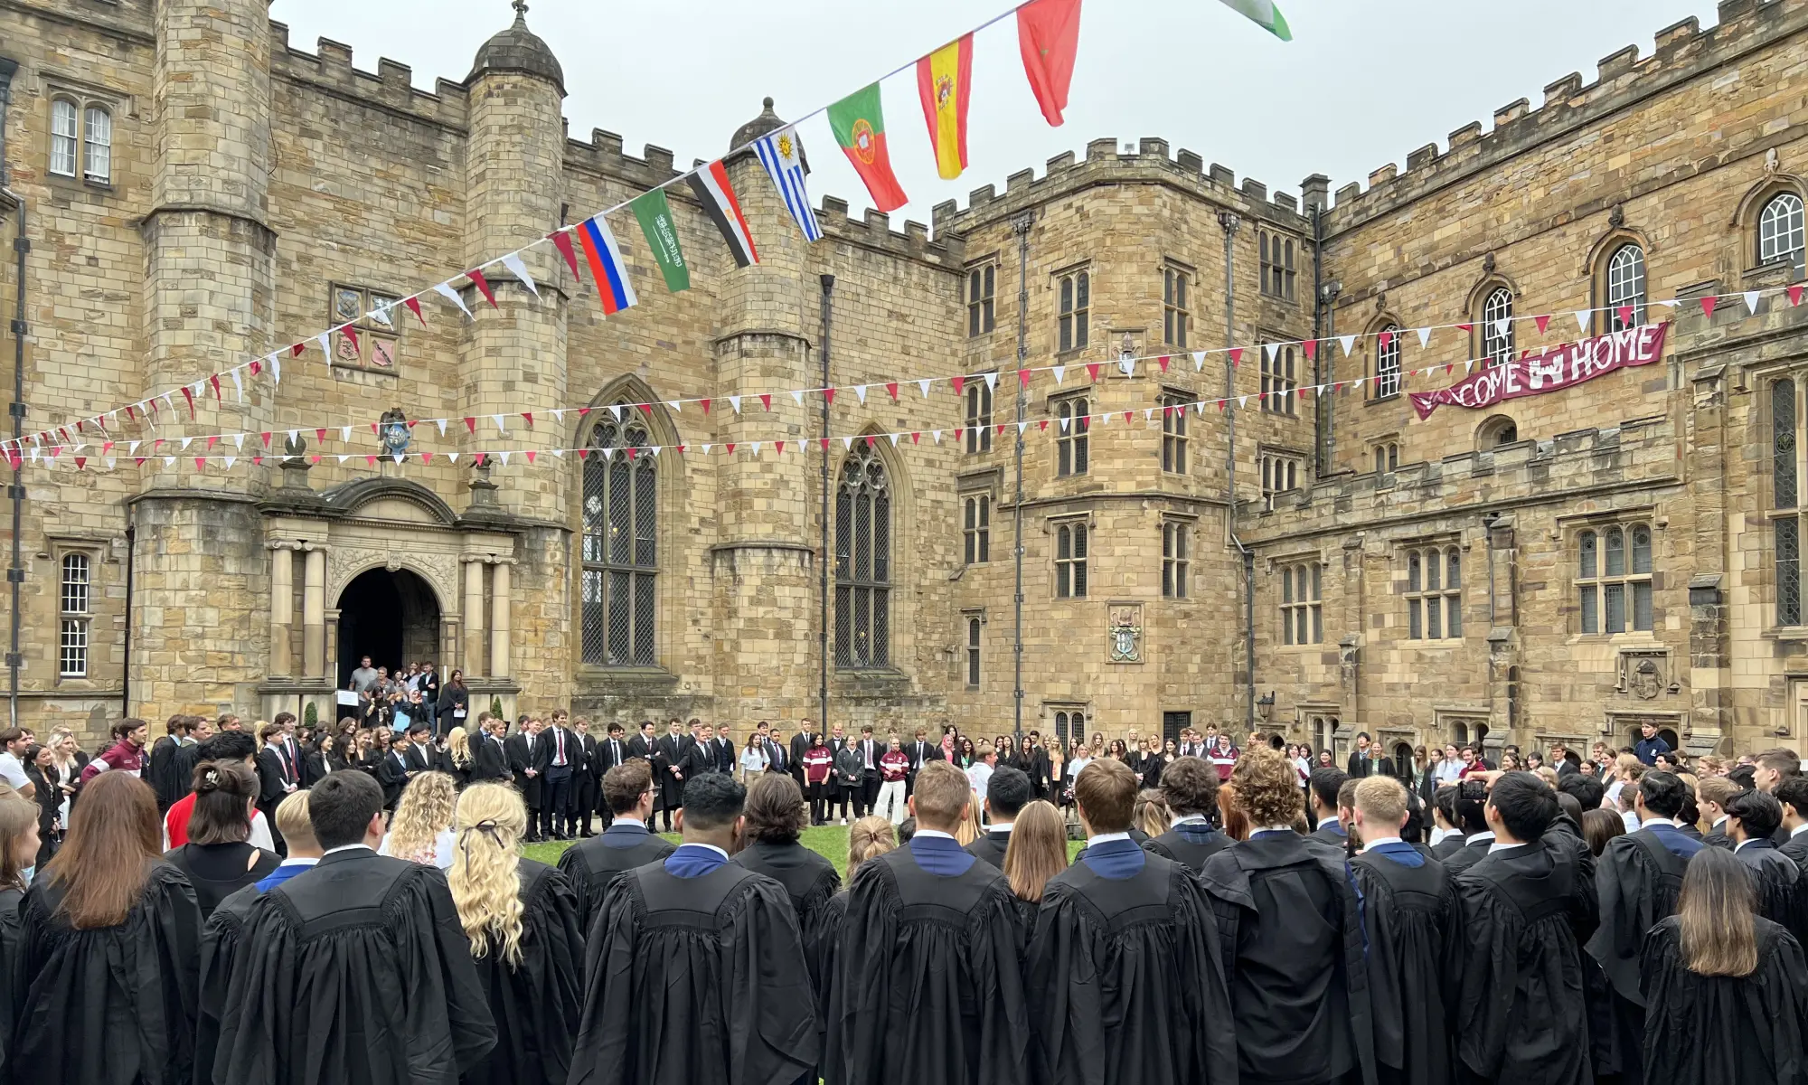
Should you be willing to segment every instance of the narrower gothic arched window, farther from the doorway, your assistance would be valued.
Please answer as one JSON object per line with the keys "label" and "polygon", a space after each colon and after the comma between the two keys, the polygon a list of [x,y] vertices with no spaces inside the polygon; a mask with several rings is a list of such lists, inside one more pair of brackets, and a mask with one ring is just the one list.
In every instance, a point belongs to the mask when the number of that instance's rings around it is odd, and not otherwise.
{"label": "narrower gothic arched window, farther from the doorway", "polygon": [[891,485],[868,445],[835,486],[835,665],[891,665]]}

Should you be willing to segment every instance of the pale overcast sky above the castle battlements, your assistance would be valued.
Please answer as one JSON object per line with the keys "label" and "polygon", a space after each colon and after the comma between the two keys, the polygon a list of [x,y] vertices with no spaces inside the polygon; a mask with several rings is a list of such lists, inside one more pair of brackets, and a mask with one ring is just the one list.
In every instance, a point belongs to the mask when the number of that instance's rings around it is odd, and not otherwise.
{"label": "pale overcast sky above the castle battlements", "polygon": [[[975,45],[969,165],[956,181],[935,175],[915,74],[884,85],[891,157],[911,203],[893,215],[929,221],[946,199],[965,204],[980,184],[1043,172],[1047,159],[1090,139],[1159,136],[1208,163],[1296,192],[1327,174],[1332,192],[1367,183],[1407,152],[1445,145],[1571,71],[1595,80],[1595,61],[1625,45],[1642,56],[1653,34],[1690,14],[1714,22],[1714,0],[1278,0],[1291,43],[1271,38],[1217,0],[1094,0],[1085,7],[1067,123],[1036,110],[1018,60],[1014,20]],[[645,143],[689,165],[716,157],[734,128],[777,99],[786,119],[828,105],[1005,11],[1011,0],[532,0],[528,25],[551,43],[566,72],[571,136],[591,128]],[[414,81],[463,80],[472,56],[513,18],[506,0],[275,0],[289,42],[353,47],[374,72],[380,56],[407,63]],[[833,154],[821,118],[803,128],[814,154],[812,195],[846,199],[859,215],[866,190]]]}

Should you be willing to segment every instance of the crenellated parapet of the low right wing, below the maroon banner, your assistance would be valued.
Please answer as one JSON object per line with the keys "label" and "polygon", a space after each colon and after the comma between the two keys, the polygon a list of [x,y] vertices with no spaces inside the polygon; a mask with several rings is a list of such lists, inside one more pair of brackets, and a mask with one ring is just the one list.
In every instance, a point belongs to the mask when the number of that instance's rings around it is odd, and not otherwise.
{"label": "crenellated parapet of the low right wing, below the maroon banner", "polygon": [[1390,472],[1345,472],[1275,497],[1271,510],[1260,501],[1244,501],[1238,530],[1246,542],[1269,542],[1464,508],[1484,512],[1558,497],[1586,501],[1595,490],[1678,481],[1678,439],[1669,416],[1653,416]]}

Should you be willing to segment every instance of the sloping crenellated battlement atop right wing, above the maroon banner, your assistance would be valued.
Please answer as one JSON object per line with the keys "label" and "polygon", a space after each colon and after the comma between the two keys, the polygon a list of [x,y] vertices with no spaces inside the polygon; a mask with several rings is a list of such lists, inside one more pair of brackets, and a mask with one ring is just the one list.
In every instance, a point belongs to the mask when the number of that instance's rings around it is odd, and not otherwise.
{"label": "sloping crenellated battlement atop right wing, above the maroon banner", "polygon": [[1479,174],[1540,143],[1580,127],[1600,123],[1615,110],[1736,63],[1741,56],[1808,29],[1808,0],[1723,0],[1719,24],[1701,29],[1685,18],[1656,33],[1654,52],[1640,56],[1627,45],[1600,58],[1593,83],[1571,72],[1544,87],[1537,108],[1528,99],[1510,101],[1493,112],[1493,128],[1481,121],[1450,134],[1445,150],[1428,143],[1407,154],[1407,168],[1394,163],[1369,174],[1369,186],[1338,188],[1327,230],[1338,233],[1390,213],[1432,188]]}

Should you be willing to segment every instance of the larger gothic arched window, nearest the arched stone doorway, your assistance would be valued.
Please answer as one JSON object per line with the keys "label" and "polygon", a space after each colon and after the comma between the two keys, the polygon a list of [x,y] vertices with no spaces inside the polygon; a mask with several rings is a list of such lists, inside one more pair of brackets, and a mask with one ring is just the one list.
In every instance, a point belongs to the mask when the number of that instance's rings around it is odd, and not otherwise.
{"label": "larger gothic arched window, nearest the arched stone doorway", "polygon": [[633,403],[589,434],[584,459],[584,662],[653,667],[658,459]]}

